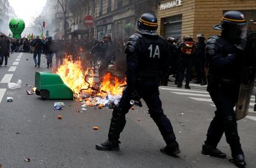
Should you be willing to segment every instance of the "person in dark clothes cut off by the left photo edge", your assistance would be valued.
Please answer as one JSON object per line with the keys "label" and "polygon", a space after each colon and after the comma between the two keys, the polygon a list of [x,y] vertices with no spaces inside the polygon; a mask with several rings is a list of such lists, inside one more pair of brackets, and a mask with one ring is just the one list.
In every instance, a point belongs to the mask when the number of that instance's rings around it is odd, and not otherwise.
{"label": "person in dark clothes cut off by the left photo edge", "polygon": [[2,63],[4,62],[4,66],[7,66],[9,56],[9,40],[4,38],[4,35],[0,36],[0,67],[2,67]]}

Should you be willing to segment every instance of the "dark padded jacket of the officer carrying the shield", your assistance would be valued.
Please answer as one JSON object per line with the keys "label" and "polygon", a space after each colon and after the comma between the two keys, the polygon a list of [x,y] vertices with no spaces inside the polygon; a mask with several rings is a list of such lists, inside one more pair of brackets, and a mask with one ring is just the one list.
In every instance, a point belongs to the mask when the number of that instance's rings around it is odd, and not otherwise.
{"label": "dark padded jacket of the officer carrying the shield", "polygon": [[209,77],[214,83],[239,83],[241,53],[222,36],[212,36],[207,41],[206,54],[209,62]]}

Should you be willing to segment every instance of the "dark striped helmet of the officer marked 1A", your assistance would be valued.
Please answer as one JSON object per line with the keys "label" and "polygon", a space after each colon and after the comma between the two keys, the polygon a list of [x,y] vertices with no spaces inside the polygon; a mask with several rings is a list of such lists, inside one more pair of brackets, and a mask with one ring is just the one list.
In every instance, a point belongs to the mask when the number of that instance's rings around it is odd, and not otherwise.
{"label": "dark striped helmet of the officer marked 1A", "polygon": [[158,21],[155,15],[146,13],[143,14],[137,21],[136,29],[139,33],[148,35],[158,35],[156,30],[158,28]]}

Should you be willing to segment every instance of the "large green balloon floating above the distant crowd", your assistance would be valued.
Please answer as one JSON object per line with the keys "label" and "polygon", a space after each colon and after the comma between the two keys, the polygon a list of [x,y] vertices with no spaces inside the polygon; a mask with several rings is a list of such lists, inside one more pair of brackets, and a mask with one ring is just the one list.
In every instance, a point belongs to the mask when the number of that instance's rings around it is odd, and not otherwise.
{"label": "large green balloon floating above the distant crowd", "polygon": [[21,33],[25,28],[24,20],[13,18],[9,23],[9,27],[12,31],[12,38],[21,38]]}

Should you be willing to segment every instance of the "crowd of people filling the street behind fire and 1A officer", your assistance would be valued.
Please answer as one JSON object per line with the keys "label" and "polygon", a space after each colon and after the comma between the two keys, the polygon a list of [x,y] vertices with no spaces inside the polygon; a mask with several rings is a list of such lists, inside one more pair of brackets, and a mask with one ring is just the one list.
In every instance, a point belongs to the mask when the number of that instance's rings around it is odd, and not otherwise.
{"label": "crowd of people filling the street behind fire and 1A officer", "polygon": [[[40,39],[36,36],[33,40],[28,38],[8,38],[2,35],[1,43],[7,43],[7,48],[2,49],[0,64],[7,59],[11,52],[30,52],[33,53],[35,67],[40,67],[41,54],[46,55],[47,68],[53,67],[53,57],[56,57],[55,65],[63,64],[63,59],[68,58],[72,61],[82,60],[84,67],[98,67],[99,76],[102,77],[108,72],[108,65],[115,63],[117,70],[125,74],[126,71],[126,40],[111,38],[105,35],[102,40],[53,40],[51,36]],[[207,85],[205,70],[207,59],[205,57],[205,36],[197,35],[197,42],[192,36],[179,38],[166,38],[169,50],[169,71],[161,80],[161,85],[168,85],[169,76],[176,78],[175,84],[178,88],[182,87],[184,74],[186,74],[186,89],[190,89],[189,83],[195,77],[195,83]],[[5,42],[4,42],[5,41]],[[4,54],[4,52],[6,54]],[[98,63],[100,61],[100,63]]]}

